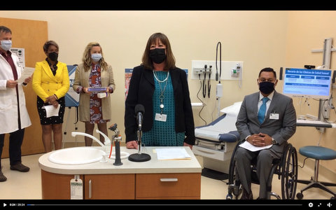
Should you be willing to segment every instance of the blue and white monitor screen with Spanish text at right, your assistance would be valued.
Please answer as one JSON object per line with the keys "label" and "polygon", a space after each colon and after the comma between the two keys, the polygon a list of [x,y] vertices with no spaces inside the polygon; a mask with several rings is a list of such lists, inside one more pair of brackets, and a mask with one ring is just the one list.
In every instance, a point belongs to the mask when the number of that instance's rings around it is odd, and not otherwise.
{"label": "blue and white monitor screen with Spanish text at right", "polygon": [[283,94],[290,97],[329,99],[332,70],[285,68]]}

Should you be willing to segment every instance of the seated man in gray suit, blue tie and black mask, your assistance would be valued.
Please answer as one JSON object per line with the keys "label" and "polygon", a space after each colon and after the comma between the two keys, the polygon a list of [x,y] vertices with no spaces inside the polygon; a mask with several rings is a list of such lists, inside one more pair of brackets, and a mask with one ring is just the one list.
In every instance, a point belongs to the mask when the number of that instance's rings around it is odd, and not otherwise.
{"label": "seated man in gray suit, blue tie and black mask", "polygon": [[[262,69],[257,79],[260,92],[244,97],[237,116],[236,127],[241,141],[248,141],[260,148],[272,145],[270,148],[255,152],[242,147],[237,148],[235,152],[236,175],[239,176],[244,188],[243,195],[241,195],[243,200],[253,199],[251,160],[255,158],[260,181],[259,199],[267,199],[267,179],[272,169],[272,161],[275,158],[281,158],[287,140],[296,130],[293,99],[274,90],[277,82],[276,72],[272,68]],[[267,99],[263,100],[263,97]]]}

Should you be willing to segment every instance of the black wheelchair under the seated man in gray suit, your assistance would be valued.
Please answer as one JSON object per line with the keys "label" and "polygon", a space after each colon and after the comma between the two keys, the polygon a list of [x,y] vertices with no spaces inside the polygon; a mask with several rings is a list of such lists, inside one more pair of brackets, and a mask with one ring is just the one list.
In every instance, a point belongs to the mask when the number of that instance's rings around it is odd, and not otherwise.
{"label": "black wheelchair under the seated man in gray suit", "polygon": [[[235,167],[236,162],[234,160],[235,152],[237,151],[239,144],[235,147],[234,152],[232,153],[232,157],[230,160],[230,168],[229,168],[229,178],[228,178],[228,195],[226,196],[227,200],[232,200],[235,196],[235,199],[238,199],[239,195],[241,195],[243,188],[238,179],[236,179]],[[258,176],[256,174],[256,162],[252,162],[251,164],[251,178],[252,183],[259,184]],[[267,200],[270,199],[271,196],[276,197],[276,199],[280,200],[281,197],[272,192],[272,179],[274,174],[278,175],[278,179],[281,179],[281,196],[283,200],[293,200],[295,199],[295,192],[297,186],[297,152],[295,147],[292,144],[288,144],[283,149],[283,155],[281,159],[274,159],[272,162],[272,169],[269,173],[269,177],[267,180]]]}

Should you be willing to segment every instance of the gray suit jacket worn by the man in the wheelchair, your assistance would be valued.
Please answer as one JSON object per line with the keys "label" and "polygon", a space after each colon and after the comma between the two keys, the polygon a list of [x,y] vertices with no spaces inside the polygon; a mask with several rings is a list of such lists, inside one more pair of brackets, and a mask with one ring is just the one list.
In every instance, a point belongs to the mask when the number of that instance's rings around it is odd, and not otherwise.
{"label": "gray suit jacket worn by the man in the wheelchair", "polygon": [[[244,97],[236,122],[240,140],[244,141],[248,135],[262,132],[278,142],[279,145],[272,146],[272,149],[282,152],[283,147],[286,145],[283,143],[286,143],[296,130],[296,113],[293,99],[274,90],[271,104],[261,125],[257,116],[258,100],[259,92]],[[269,119],[270,113],[279,114],[279,119]]]}

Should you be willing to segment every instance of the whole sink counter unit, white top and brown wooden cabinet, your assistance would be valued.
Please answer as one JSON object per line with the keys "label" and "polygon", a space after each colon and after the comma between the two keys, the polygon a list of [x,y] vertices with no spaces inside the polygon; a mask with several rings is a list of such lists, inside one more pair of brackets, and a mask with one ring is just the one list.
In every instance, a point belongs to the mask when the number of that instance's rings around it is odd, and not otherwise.
{"label": "whole sink counter unit, white top and brown wooden cabinet", "polygon": [[[102,148],[102,147],[94,147]],[[189,160],[158,160],[157,148],[185,148]],[[103,148],[102,148],[103,149]],[[121,152],[138,153],[136,149],[120,147]],[[188,146],[143,147],[151,155],[146,162],[121,159],[123,165],[113,165],[115,160],[82,165],[63,165],[50,162],[52,153],[38,159],[41,168],[42,198],[47,200],[73,199],[70,181],[79,185],[81,199],[200,199],[202,167]],[[69,155],[71,157],[71,155]],[[66,158],[64,158],[66,159]],[[80,181],[80,184],[77,182]],[[83,181],[83,183],[82,183]],[[113,189],[113,190],[111,190]],[[118,193],[116,193],[118,192]]]}

